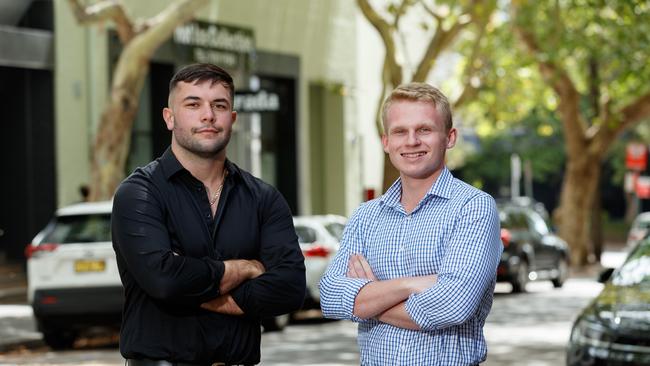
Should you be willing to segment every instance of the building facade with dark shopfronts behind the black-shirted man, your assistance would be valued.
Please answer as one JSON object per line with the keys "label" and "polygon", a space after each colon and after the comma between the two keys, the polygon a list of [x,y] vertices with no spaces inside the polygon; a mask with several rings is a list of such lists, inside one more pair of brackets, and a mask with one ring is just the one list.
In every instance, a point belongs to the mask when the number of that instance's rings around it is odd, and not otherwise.
{"label": "building facade with dark shopfronts behind the black-shirted man", "polygon": [[[134,19],[169,5],[122,3]],[[0,144],[3,170],[12,172],[2,183],[0,241],[15,249],[5,256],[16,258],[57,207],[82,200],[79,188],[90,182],[94,134],[121,45],[110,22],[79,25],[67,1],[8,0],[2,7],[0,90],[13,122],[3,125]],[[369,66],[359,62],[359,24],[348,0],[209,1],[150,62],[125,176],[169,145],[161,110],[175,70],[209,61],[236,79],[232,160],[275,185],[294,214],[349,215],[369,179],[376,187],[381,174],[364,173],[380,164],[363,163],[367,141],[375,150],[378,145],[374,107],[358,109],[366,100],[358,69]],[[29,48],[32,55],[22,54],[26,40],[39,45]],[[7,44],[12,52],[4,51]]]}

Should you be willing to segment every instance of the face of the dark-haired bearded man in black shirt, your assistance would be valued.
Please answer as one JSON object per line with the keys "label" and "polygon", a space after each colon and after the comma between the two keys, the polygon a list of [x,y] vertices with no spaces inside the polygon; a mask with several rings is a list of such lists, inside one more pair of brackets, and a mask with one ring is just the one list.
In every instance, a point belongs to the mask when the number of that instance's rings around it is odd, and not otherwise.
{"label": "face of the dark-haired bearded man in black shirt", "polygon": [[[221,83],[179,82],[163,109],[172,149],[204,158],[225,156],[237,112],[232,110],[228,89]],[[176,152],[176,151],[175,151]]]}

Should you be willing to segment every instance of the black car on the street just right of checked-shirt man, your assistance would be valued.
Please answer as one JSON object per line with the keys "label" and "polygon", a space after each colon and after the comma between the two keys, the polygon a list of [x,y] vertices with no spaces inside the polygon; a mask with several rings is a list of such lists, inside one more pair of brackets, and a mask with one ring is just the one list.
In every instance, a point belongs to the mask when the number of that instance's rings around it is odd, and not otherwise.
{"label": "black car on the street just right of checked-shirt man", "polygon": [[497,281],[512,284],[512,292],[525,292],[528,281],[550,280],[562,287],[569,274],[569,247],[549,228],[539,209],[518,202],[501,202],[503,254]]}

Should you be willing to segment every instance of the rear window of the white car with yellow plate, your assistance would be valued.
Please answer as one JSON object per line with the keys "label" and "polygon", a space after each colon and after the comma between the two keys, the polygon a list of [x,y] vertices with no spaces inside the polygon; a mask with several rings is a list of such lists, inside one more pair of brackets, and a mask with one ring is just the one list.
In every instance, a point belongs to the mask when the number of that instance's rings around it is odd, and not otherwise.
{"label": "rear window of the white car with yellow plate", "polygon": [[56,218],[44,243],[92,243],[111,241],[111,215],[70,215]]}

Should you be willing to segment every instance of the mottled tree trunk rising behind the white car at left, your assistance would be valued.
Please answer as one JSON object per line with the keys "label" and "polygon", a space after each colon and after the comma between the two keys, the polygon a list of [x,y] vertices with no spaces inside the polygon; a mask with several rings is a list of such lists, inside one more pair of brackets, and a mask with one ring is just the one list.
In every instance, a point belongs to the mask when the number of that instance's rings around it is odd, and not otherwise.
{"label": "mottled tree trunk rising behind the white car at left", "polygon": [[102,113],[95,137],[90,201],[111,199],[124,179],[133,122],[142,86],[149,72],[148,58],[141,58],[137,62],[120,59],[120,63],[125,66],[116,67],[109,105]]}

